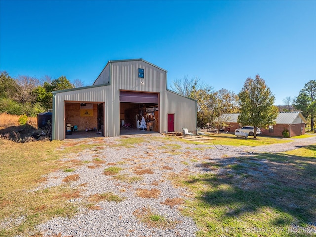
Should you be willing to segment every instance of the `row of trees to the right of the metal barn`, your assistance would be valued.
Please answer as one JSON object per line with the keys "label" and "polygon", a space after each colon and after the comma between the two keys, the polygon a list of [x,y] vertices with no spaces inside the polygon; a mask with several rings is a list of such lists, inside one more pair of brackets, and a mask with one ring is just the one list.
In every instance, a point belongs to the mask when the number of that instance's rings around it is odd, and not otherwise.
{"label": "row of trees to the right of the metal barn", "polygon": [[[275,106],[275,96],[259,75],[247,78],[238,94],[227,89],[214,91],[212,86],[198,78],[185,76],[176,79],[171,89],[181,95],[197,100],[197,125],[215,128],[226,126],[227,114],[240,113],[238,122],[242,125],[267,127],[274,124],[279,111],[301,111],[311,122],[314,130],[316,114],[316,81],[307,82],[297,97],[283,99],[285,106]],[[256,132],[255,132],[256,134]]]}

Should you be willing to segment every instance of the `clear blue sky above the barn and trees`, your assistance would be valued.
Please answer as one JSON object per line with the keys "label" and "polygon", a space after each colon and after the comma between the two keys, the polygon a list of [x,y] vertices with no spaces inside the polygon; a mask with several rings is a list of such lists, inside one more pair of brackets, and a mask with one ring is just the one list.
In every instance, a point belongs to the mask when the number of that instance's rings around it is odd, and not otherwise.
{"label": "clear blue sky above the barn and trees", "polygon": [[0,1],[0,70],[91,85],[109,60],[238,94],[259,74],[276,105],[316,79],[316,1]]}

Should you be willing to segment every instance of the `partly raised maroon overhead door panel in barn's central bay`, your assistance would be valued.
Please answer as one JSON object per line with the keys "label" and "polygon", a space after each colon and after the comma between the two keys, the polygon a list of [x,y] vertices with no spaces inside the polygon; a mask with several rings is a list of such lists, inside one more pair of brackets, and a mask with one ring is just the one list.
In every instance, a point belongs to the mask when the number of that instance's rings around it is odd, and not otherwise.
{"label": "partly raised maroon overhead door panel in barn's central bay", "polygon": [[158,104],[158,94],[156,93],[120,91],[119,96],[120,102]]}

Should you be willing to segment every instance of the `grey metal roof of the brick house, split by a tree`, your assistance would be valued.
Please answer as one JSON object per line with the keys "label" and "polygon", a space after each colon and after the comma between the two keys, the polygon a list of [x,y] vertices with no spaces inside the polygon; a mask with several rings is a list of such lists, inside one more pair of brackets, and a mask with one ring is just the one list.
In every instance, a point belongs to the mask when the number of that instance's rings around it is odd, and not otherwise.
{"label": "grey metal roof of the brick house, split by a tree", "polygon": [[[224,114],[223,118],[226,120],[226,123],[237,123],[238,116],[240,113],[236,114]],[[276,117],[276,124],[297,124],[298,121],[301,121],[302,123],[307,123],[306,119],[299,111],[291,111],[291,112],[278,112],[278,115]]]}

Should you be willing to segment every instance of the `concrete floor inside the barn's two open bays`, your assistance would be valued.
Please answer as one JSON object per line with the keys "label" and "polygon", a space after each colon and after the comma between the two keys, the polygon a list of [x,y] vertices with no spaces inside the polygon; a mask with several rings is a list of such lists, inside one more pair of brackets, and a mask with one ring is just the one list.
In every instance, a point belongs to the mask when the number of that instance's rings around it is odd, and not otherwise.
{"label": "concrete floor inside the barn's two open bays", "polygon": [[[120,136],[125,135],[143,135],[143,134],[155,134],[158,132],[154,131],[142,131],[137,128],[120,128]],[[72,132],[72,134],[66,135],[65,139],[79,139],[79,138],[94,138],[94,137],[102,137],[101,133],[97,131],[79,131],[79,132]]]}

